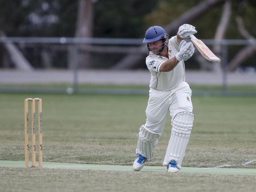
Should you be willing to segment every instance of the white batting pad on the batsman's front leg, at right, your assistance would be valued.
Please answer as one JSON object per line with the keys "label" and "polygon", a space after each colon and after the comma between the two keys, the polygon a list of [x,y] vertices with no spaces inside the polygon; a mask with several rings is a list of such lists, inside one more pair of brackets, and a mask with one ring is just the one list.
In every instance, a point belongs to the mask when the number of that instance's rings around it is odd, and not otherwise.
{"label": "white batting pad on the batsman's front leg, at right", "polygon": [[172,131],[166,150],[163,166],[170,161],[176,161],[178,169],[181,168],[189,136],[193,127],[194,114],[188,111],[177,113],[172,120]]}

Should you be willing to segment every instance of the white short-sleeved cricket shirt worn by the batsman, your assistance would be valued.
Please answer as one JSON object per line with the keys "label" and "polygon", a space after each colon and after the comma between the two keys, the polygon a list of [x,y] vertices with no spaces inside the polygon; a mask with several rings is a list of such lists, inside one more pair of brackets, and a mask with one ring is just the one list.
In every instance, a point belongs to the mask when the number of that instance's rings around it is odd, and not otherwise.
{"label": "white short-sleeved cricket shirt worn by the batsman", "polygon": [[[175,57],[178,50],[179,44],[176,41],[176,36],[174,36],[169,39],[168,43],[169,58],[171,59]],[[150,52],[150,55],[146,58],[146,64],[151,73],[149,84],[150,89],[168,91],[175,89],[182,81],[185,81],[185,66],[183,60],[180,61],[173,70],[160,73],[160,66],[169,59],[159,55],[154,55],[152,52]]]}

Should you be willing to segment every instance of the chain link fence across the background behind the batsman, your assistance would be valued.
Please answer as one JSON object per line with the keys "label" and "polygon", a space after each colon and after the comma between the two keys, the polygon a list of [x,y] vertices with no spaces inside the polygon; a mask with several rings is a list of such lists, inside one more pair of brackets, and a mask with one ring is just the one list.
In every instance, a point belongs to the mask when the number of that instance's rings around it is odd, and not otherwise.
{"label": "chain link fence across the background behind the batsman", "polygon": [[[196,90],[194,94],[255,95],[253,58],[235,72],[228,72],[227,65],[239,47],[256,43],[235,39],[203,41],[208,46],[221,44],[222,70],[200,70],[202,64],[191,59],[186,62],[186,81],[199,87],[219,86],[221,90]],[[0,37],[0,92],[148,94],[150,72],[141,42],[142,39]],[[127,54],[140,55],[142,59],[135,67],[116,70],[116,64]],[[230,86],[250,88],[229,90]]]}

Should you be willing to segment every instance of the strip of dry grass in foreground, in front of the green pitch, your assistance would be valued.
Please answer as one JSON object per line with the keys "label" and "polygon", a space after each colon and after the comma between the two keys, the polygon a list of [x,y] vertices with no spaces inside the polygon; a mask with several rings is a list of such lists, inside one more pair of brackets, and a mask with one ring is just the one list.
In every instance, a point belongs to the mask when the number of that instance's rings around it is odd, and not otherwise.
{"label": "strip of dry grass in foreground, in front of the green pitch", "polygon": [[5,192],[252,192],[256,186],[255,179],[255,175],[0,168],[0,190]]}

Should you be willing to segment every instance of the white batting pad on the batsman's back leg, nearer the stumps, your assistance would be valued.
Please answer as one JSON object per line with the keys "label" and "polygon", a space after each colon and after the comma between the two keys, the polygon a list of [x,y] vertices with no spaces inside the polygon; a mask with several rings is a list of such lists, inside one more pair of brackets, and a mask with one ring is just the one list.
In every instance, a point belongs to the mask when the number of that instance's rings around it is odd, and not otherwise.
{"label": "white batting pad on the batsman's back leg, nearer the stumps", "polygon": [[158,144],[159,134],[153,133],[144,125],[139,129],[139,139],[137,142],[136,153],[147,158],[147,161],[152,161],[153,150]]}

